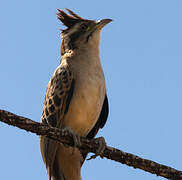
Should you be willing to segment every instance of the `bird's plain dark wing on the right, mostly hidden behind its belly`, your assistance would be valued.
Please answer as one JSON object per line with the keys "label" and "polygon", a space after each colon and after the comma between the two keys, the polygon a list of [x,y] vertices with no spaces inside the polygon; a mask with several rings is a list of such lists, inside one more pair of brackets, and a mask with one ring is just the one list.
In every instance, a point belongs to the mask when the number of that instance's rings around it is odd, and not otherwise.
{"label": "bird's plain dark wing on the right, mostly hidden behind its belly", "polygon": [[[88,135],[87,135],[88,139],[94,138],[96,136],[97,132],[99,131],[99,129],[104,127],[104,125],[107,121],[108,114],[109,114],[109,103],[108,103],[108,98],[107,98],[107,94],[106,94],[99,119],[98,119],[97,123],[95,124],[95,126],[92,128],[92,130],[88,133]],[[85,161],[87,154],[88,153],[82,152],[82,157],[83,157],[82,164]]]}

